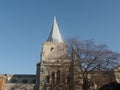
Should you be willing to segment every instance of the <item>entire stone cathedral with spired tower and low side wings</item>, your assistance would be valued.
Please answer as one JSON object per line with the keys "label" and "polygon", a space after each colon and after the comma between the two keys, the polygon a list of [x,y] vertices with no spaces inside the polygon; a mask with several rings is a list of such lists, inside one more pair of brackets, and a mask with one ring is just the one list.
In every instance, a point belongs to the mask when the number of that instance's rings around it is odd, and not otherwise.
{"label": "entire stone cathedral with spired tower and low side wings", "polygon": [[[72,59],[67,57],[67,46],[54,17],[48,39],[42,45],[40,62],[36,64],[36,75],[0,75],[0,90],[82,90],[83,80],[74,51]],[[90,90],[98,90],[109,82],[120,82],[120,67],[111,72],[92,73],[95,76]]]}

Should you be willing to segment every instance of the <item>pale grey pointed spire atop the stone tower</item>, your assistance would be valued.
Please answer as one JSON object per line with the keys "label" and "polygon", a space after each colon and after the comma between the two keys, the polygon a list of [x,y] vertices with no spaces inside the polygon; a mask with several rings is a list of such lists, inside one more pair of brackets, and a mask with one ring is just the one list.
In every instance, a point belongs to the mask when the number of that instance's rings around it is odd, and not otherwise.
{"label": "pale grey pointed spire atop the stone tower", "polygon": [[63,42],[55,16],[54,16],[54,22],[52,25],[52,29],[51,29],[51,32],[49,34],[47,41],[48,42]]}

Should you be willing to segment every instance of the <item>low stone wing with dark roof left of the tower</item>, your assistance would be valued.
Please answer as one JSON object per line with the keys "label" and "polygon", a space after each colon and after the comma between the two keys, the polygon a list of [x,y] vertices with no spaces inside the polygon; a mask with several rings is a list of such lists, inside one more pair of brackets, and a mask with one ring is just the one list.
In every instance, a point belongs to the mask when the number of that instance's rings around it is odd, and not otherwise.
{"label": "low stone wing with dark roof left of the tower", "polygon": [[36,75],[5,74],[3,76],[4,79],[0,78],[0,90],[34,90]]}

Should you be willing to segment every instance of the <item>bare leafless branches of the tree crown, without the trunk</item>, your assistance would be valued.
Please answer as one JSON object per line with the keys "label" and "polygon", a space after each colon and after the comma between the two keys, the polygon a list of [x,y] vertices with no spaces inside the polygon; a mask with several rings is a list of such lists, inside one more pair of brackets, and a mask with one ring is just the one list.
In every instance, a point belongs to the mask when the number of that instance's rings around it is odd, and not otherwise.
{"label": "bare leafless branches of the tree crown, without the trunk", "polygon": [[93,40],[71,39],[67,46],[68,56],[70,57],[74,50],[77,60],[81,63],[81,69],[87,71],[111,69],[120,57],[120,54],[109,50],[105,44],[97,45]]}

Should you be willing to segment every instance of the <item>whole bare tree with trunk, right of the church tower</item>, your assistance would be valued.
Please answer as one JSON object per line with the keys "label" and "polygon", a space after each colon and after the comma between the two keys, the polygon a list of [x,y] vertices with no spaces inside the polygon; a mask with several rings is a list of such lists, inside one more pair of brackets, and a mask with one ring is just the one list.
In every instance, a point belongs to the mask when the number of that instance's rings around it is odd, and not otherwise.
{"label": "whole bare tree with trunk, right of the church tower", "polygon": [[97,45],[93,40],[80,41],[71,39],[67,43],[68,57],[78,63],[83,90],[91,86],[90,75],[95,71],[108,71],[118,65],[120,54],[107,48],[105,44]]}

